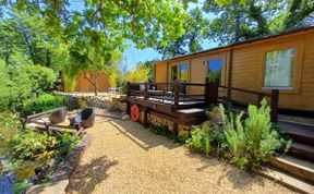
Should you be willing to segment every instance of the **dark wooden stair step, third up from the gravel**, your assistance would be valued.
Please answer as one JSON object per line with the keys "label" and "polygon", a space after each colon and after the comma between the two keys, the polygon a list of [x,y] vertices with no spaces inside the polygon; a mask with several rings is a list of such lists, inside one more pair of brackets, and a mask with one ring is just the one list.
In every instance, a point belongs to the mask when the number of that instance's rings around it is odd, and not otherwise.
{"label": "dark wooden stair step, third up from the gravel", "polygon": [[300,143],[292,143],[289,153],[298,158],[306,159],[314,162],[314,147]]}

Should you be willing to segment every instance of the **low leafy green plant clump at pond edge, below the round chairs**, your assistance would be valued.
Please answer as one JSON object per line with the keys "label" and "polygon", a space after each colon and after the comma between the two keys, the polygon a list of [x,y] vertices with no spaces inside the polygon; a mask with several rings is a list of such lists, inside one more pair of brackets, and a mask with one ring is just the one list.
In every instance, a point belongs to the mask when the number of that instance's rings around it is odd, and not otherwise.
{"label": "low leafy green plant clump at pond edge, below the round chairs", "polygon": [[47,133],[26,129],[11,138],[10,156],[12,160],[34,160],[44,156],[53,156],[56,143],[56,137],[49,136]]}

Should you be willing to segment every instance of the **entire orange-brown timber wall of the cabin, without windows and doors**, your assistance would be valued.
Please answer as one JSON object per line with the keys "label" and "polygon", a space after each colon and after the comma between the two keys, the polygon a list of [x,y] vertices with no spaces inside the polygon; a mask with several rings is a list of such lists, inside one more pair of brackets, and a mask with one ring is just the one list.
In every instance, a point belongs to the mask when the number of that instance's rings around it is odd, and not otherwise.
{"label": "entire orange-brown timber wall of the cabin, without windows and doors", "polygon": [[[294,85],[292,90],[280,90],[279,107],[314,111],[314,29],[170,60],[168,70],[167,61],[162,61],[156,64],[156,81],[170,81],[170,65],[182,61],[190,61],[189,82],[204,83],[208,74],[207,61],[217,56],[225,56],[226,61],[222,69],[221,85],[228,86],[228,83],[231,81],[231,86],[233,87],[270,93],[270,90],[262,89],[265,52],[291,47],[297,47],[298,52],[293,72],[295,74],[293,80]],[[232,68],[230,68],[231,52]],[[203,63],[204,59],[206,60],[205,65]],[[229,80],[230,71],[231,80]],[[202,94],[203,89],[193,87],[189,92]],[[227,90],[220,89],[219,96],[227,96]],[[257,104],[258,98],[256,95],[232,92],[231,99],[244,104]]]}

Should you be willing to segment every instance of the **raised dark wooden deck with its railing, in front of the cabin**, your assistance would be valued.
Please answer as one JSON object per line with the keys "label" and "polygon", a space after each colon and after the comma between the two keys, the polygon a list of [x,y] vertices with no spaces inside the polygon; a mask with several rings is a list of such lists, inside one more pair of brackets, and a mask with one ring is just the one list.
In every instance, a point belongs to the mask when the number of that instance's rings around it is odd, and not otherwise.
{"label": "raised dark wooden deck with its railing, in front of the cabin", "polygon": [[[198,93],[191,93],[195,87],[197,87]],[[255,95],[258,101],[263,97],[269,97],[271,121],[277,121],[278,90],[264,94],[220,86],[218,83],[208,82],[208,80],[205,83],[128,83],[128,110],[130,110],[131,105],[140,106],[144,113],[144,124],[147,124],[147,113],[168,119],[176,124],[200,124],[206,120],[206,108],[210,105],[217,105],[218,100],[228,101],[227,97],[218,97],[219,88]]]}

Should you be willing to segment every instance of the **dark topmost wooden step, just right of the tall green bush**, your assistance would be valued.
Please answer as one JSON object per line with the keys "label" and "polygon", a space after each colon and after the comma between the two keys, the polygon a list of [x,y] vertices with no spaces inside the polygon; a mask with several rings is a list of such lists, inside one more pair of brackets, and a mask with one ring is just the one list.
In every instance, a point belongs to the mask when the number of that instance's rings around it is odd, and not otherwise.
{"label": "dark topmost wooden step, just right of the tall green bush", "polygon": [[279,121],[280,130],[286,131],[293,142],[314,146],[314,126],[309,124]]}

